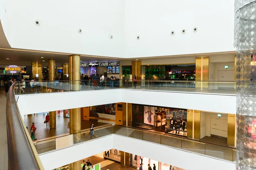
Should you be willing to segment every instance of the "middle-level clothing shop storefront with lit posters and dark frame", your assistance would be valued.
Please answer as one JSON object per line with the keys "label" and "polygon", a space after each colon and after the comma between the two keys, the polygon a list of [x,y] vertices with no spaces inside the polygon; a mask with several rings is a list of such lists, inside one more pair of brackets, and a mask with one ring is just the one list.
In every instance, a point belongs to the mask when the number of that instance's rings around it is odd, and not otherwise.
{"label": "middle-level clothing shop storefront with lit posters and dark frame", "polygon": [[187,110],[132,105],[133,127],[187,136]]}

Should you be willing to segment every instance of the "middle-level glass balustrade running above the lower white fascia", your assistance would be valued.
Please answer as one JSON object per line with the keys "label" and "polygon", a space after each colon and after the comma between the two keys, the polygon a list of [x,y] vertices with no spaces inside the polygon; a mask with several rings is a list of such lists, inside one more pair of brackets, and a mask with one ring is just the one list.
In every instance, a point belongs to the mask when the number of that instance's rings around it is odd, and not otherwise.
{"label": "middle-level glass balustrade running above the lower white fascia", "polygon": [[[127,136],[134,139],[140,139],[143,141],[153,142],[157,144],[163,144],[176,149],[187,150],[193,153],[200,153],[202,155],[212,156],[219,159],[228,161],[236,161],[236,150],[230,147],[222,147],[215,144],[208,144],[204,142],[198,142],[195,140],[177,138],[176,136],[170,136],[162,133],[154,133],[145,130],[137,130],[131,127],[123,127],[119,125],[106,125],[103,127],[95,128],[92,138],[90,138],[90,130],[84,130],[80,133],[74,133],[72,135],[58,137],[72,137],[72,144],[65,147],[72,146],[73,144],[79,144],[88,140],[96,139],[103,136],[116,134],[120,136]],[[48,139],[44,141],[34,142],[34,145],[38,151],[38,154],[45,153],[51,150],[60,149],[57,148],[57,140]]]}

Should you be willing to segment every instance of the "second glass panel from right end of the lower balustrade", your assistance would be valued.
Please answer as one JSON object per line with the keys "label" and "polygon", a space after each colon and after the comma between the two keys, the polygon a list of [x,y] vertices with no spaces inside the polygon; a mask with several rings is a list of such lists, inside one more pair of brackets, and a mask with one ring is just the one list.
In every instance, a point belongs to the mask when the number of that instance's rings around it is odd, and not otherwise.
{"label": "second glass panel from right end of the lower balustrade", "polygon": [[189,150],[191,152],[205,154],[205,144],[189,140],[182,140],[181,149]]}

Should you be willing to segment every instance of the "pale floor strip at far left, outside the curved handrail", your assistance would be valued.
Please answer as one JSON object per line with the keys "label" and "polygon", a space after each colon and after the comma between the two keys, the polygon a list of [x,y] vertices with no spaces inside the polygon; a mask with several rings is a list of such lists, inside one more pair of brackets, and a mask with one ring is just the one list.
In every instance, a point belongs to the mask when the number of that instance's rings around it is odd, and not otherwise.
{"label": "pale floor strip at far left, outside the curved handrail", "polygon": [[6,132],[6,93],[0,88],[0,170],[8,169],[8,146]]}

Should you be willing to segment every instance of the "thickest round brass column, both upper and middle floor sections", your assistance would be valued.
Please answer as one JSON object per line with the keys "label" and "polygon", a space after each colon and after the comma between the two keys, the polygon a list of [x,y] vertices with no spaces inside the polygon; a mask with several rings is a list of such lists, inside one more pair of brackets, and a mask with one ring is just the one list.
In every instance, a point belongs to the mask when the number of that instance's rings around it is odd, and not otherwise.
{"label": "thickest round brass column, both upper and middle floor sections", "polygon": [[[80,91],[80,56],[71,55],[69,57],[69,80],[71,91]],[[74,141],[81,138],[81,108],[70,109],[70,134],[74,134]]]}

